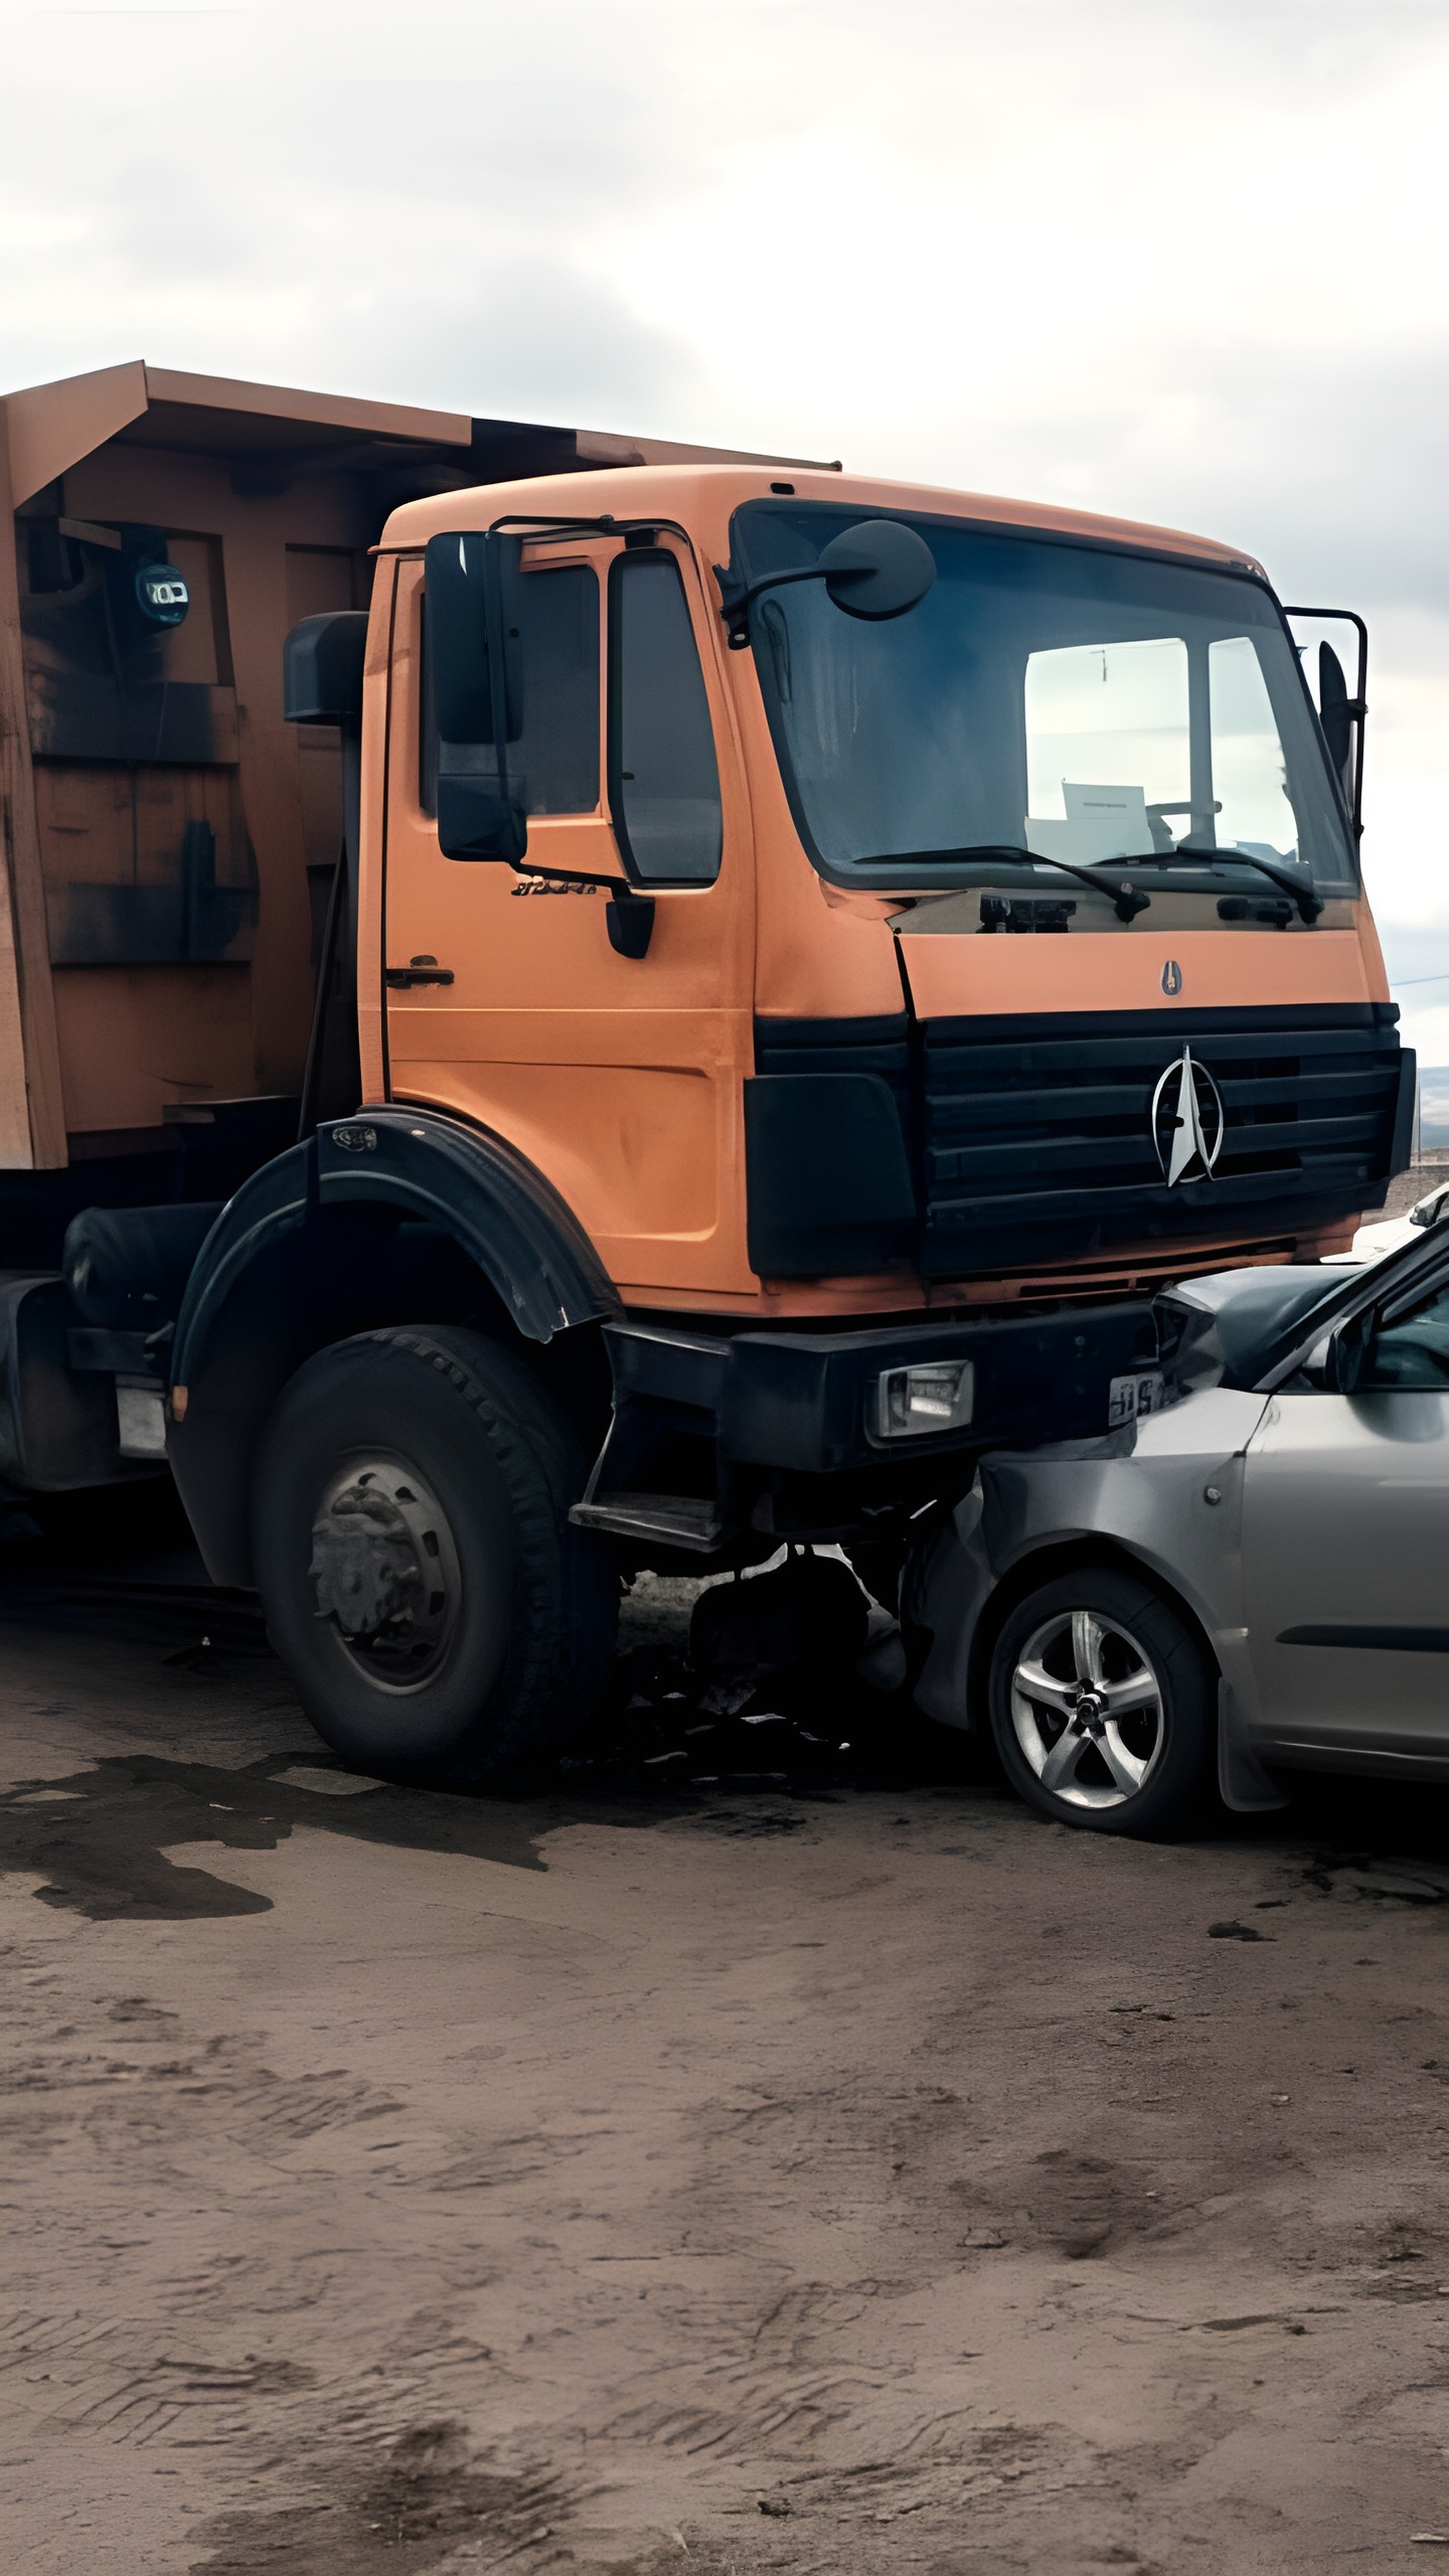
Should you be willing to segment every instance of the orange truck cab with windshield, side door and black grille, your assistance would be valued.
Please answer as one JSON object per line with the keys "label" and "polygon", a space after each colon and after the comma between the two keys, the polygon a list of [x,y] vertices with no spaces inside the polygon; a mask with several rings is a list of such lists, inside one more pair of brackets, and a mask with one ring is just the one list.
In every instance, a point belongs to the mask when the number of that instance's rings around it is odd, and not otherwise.
{"label": "orange truck cab with windshield, side door and black grille", "polygon": [[[456,505],[379,554],[369,1100],[511,1139],[634,1311],[938,1314],[1343,1242],[1403,1061],[1256,564],[727,466],[498,487],[487,526],[511,863],[449,824],[500,775],[433,703]],[[920,598],[812,577],[882,531]],[[1201,1144],[1163,1162],[1183,1048]]]}

